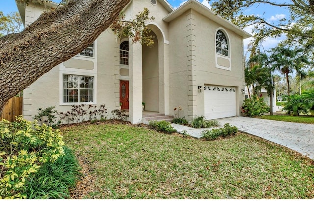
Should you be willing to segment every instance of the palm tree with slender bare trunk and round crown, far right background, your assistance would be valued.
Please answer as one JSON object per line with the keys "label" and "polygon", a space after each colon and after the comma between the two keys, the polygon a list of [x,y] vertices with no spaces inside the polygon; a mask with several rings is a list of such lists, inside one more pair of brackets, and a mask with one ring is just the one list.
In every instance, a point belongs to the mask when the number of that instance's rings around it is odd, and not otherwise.
{"label": "palm tree with slender bare trunk and round crown, far right background", "polygon": [[308,58],[303,53],[302,48],[290,49],[283,46],[277,46],[271,49],[270,60],[275,69],[278,69],[286,76],[288,96],[290,96],[289,73],[293,71],[301,72],[304,64],[308,64]]}

